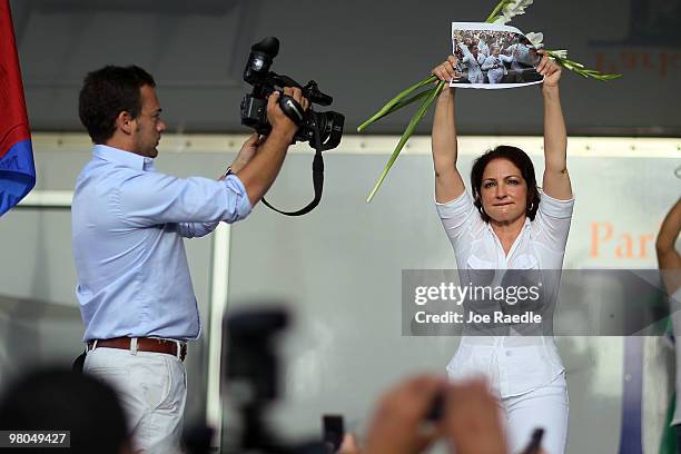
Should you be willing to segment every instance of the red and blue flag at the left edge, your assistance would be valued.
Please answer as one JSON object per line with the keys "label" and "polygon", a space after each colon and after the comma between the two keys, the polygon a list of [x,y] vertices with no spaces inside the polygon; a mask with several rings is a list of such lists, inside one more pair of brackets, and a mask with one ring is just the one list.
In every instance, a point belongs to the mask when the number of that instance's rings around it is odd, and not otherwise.
{"label": "red and blue flag at the left edge", "polygon": [[34,185],[36,166],[12,17],[9,0],[0,0],[0,216]]}

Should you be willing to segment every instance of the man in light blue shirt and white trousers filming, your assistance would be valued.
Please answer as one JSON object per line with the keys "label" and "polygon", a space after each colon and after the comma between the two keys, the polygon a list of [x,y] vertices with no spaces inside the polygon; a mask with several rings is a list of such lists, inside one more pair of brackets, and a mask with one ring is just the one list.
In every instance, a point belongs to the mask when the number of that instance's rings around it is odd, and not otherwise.
{"label": "man in light blue shirt and white trousers filming", "polygon": [[178,448],[187,394],[187,340],[200,332],[182,238],[247,217],[274,182],[298,127],[279,98],[298,108],[298,88],[267,100],[267,137],[254,134],[218,180],[154,169],[166,125],[154,78],[107,66],[90,72],[79,99],[92,159],[76,181],[72,247],[76,294],[86,325],[83,369],[120,394],[135,450]]}

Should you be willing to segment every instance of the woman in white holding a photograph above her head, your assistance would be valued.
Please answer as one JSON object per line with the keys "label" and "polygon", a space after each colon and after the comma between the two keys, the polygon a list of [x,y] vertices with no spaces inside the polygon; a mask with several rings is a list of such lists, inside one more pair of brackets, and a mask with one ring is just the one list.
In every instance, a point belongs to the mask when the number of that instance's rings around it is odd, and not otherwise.
{"label": "woman in white holding a photograph above her head", "polygon": [[[544,77],[544,175],[536,186],[530,157],[500,146],[477,158],[472,195],[456,168],[454,88],[436,100],[433,120],[435,201],[458,269],[556,269],[563,265],[574,199],[566,168],[568,139],[559,96],[560,67],[542,52]],[[433,69],[454,77],[457,61]],[[511,452],[520,452],[535,427],[543,447],[562,454],[568,438],[568,386],[553,336],[462,336],[447,366],[452,379],[486,375],[505,413]]]}

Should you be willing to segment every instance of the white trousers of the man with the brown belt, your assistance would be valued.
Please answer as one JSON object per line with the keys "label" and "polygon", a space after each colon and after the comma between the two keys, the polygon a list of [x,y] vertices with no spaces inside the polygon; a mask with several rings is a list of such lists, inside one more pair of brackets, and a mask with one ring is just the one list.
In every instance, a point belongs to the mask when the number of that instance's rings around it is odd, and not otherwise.
{"label": "white trousers of the man with the brown belt", "polygon": [[135,451],[179,452],[187,398],[181,361],[165,353],[97,347],[88,352],[83,372],[118,391]]}

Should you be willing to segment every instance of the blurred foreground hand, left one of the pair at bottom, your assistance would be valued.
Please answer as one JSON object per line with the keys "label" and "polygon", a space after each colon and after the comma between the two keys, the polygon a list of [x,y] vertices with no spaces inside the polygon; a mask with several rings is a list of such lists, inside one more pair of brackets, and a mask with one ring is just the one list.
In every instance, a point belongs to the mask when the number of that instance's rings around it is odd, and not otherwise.
{"label": "blurred foreground hand, left one of the pair at bottom", "polygon": [[416,454],[425,450],[436,434],[424,433],[422,424],[435,396],[446,386],[444,377],[422,375],[388,391],[374,414],[365,454]]}

